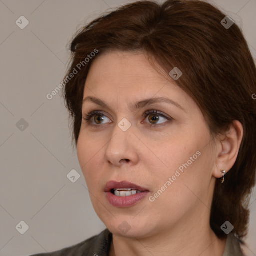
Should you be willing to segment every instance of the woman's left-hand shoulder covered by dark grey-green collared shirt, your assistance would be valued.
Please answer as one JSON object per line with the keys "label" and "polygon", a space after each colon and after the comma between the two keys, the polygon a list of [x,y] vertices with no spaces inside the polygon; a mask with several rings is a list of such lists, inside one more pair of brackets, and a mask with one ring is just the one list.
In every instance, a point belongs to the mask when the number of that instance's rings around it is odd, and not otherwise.
{"label": "woman's left-hand shoulder covered by dark grey-green collared shirt", "polygon": [[[108,229],[103,230],[98,235],[94,235],[82,242],[79,242],[70,247],[66,247],[57,251],[50,252],[51,256],[108,256],[112,241],[112,233]],[[46,256],[47,253],[33,254],[30,256]]]}

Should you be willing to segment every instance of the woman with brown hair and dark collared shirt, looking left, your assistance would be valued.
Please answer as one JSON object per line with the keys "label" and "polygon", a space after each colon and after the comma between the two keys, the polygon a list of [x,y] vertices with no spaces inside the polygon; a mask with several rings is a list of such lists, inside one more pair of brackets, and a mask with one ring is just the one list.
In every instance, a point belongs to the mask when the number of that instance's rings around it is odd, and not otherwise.
{"label": "woman with brown hair and dark collared shirt, looking left", "polygon": [[256,68],[238,26],[203,1],[138,1],[71,51],[65,102],[107,229],[51,255],[243,255]]}

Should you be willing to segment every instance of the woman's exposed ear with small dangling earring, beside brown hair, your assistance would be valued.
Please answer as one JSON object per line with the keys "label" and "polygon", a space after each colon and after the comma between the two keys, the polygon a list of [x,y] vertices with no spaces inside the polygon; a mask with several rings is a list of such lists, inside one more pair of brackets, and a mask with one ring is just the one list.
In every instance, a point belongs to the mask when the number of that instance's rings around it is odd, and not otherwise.
{"label": "woman's exposed ear with small dangling earring, beside brown hair", "polygon": [[225,134],[218,137],[216,142],[216,162],[212,175],[216,178],[221,178],[223,173],[221,170],[225,170],[226,173],[234,165],[240,144],[243,137],[242,124],[235,120],[230,124],[230,128]]}

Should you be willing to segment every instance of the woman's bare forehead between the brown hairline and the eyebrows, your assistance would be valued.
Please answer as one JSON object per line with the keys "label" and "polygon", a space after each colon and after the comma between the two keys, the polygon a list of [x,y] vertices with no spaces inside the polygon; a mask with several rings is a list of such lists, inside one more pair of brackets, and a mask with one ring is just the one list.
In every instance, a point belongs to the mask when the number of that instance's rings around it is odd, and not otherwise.
{"label": "woman's bare forehead between the brown hairline and the eyebrows", "polygon": [[167,97],[180,105],[192,103],[174,79],[167,80],[157,72],[143,53],[122,51],[104,52],[93,60],[83,98],[87,96],[108,102],[117,99],[119,104],[153,97]]}

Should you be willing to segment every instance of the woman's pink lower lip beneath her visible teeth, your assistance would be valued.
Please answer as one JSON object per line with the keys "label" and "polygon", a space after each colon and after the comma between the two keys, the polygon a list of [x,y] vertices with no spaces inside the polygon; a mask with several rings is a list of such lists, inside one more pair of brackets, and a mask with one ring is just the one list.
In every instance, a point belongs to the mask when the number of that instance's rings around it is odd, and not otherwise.
{"label": "woman's pink lower lip beneath her visible teeth", "polygon": [[118,196],[111,192],[106,192],[106,198],[109,203],[115,207],[130,207],[136,204],[138,201],[142,200],[148,192],[149,191],[143,191],[128,196]]}

